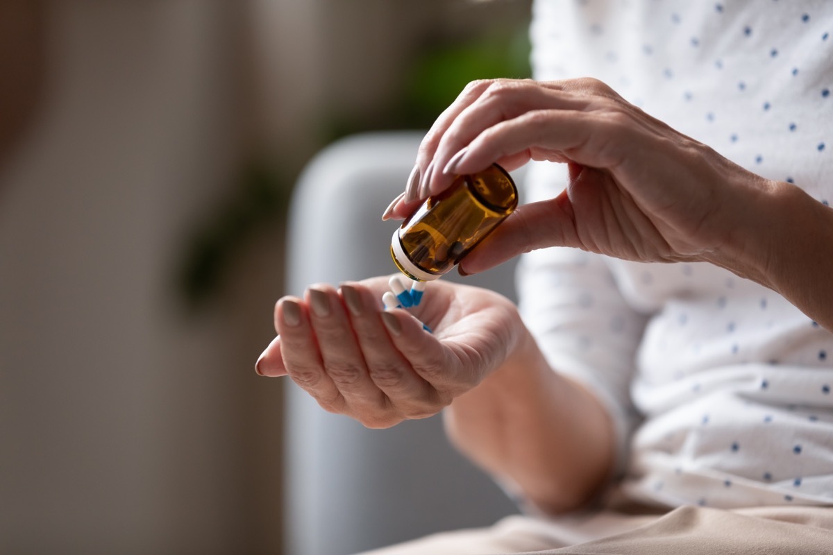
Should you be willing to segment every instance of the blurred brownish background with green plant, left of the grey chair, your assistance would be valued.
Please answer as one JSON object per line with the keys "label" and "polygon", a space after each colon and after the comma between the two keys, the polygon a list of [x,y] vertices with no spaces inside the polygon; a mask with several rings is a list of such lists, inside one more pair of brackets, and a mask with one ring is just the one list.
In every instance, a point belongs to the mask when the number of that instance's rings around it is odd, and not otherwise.
{"label": "blurred brownish background with green plant, left of the grey chair", "polygon": [[0,2],[0,553],[280,553],[292,183],[525,77],[528,4]]}

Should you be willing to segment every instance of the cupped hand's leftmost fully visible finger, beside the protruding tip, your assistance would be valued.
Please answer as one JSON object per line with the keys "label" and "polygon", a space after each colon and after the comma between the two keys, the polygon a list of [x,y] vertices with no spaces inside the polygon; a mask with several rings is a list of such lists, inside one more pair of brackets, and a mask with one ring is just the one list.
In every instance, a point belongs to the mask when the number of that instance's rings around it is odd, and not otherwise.
{"label": "cupped hand's leftmost fully visible finger, beside the protruding tip", "polygon": [[281,355],[287,374],[324,409],[340,412],[345,399],[324,370],[307,308],[301,299],[277,301],[275,327],[281,335]]}

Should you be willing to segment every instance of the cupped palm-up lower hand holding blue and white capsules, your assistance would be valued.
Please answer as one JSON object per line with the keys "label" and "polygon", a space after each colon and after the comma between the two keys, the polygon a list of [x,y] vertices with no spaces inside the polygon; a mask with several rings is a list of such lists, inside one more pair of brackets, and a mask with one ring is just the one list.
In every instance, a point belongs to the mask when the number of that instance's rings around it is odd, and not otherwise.
{"label": "cupped palm-up lower hand holding blue and white capsules", "polygon": [[440,412],[516,346],[521,321],[501,295],[435,282],[409,314],[382,310],[387,288],[379,277],[339,290],[315,285],[303,299],[279,300],[278,336],[257,361],[258,373],[288,374],[327,411],[387,428]]}

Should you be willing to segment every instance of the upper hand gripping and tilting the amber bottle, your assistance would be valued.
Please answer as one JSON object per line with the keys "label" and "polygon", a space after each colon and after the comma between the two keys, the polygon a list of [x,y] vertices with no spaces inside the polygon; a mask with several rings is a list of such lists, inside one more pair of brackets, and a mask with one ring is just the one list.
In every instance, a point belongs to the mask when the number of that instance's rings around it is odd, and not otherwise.
{"label": "upper hand gripping and tilting the amber bottle", "polygon": [[566,190],[556,196],[553,184],[554,198],[521,206],[466,256],[464,273],[552,245],[626,260],[742,265],[738,255],[766,225],[756,206],[775,186],[594,79],[483,81],[437,119],[419,171],[386,216],[406,217],[455,174],[529,160],[568,163]]}

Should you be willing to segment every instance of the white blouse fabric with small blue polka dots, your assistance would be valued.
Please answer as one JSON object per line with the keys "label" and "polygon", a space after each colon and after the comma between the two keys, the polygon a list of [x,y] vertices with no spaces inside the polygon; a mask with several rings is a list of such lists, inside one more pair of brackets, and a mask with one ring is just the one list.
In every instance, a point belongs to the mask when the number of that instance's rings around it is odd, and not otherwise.
{"label": "white blouse fabric with small blue polka dots", "polygon": [[[534,2],[547,22],[533,29],[547,47],[533,55],[536,76],[598,77],[747,170],[833,199],[833,2]],[[541,171],[535,200],[564,182]],[[558,265],[570,255],[531,257]],[[613,399],[614,414],[633,403],[645,416],[644,426],[623,424],[638,426],[639,472],[629,478],[638,493],[722,507],[833,504],[819,485],[833,480],[833,336],[774,291],[714,266],[598,267],[621,300],[594,288],[586,305],[583,275],[533,312],[554,368],[563,361]],[[587,320],[553,322],[561,305]]]}

